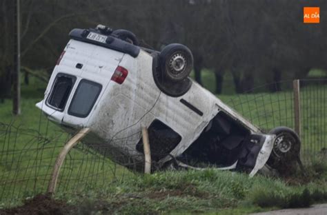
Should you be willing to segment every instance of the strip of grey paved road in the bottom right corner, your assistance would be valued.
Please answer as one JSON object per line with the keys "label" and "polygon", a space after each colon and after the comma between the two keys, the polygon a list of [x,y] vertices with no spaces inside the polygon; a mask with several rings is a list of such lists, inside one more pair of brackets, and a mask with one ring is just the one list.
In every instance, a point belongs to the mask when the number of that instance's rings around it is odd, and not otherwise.
{"label": "strip of grey paved road in the bottom right corner", "polygon": [[258,213],[255,215],[327,215],[327,204],[313,205],[308,208],[279,209],[272,212]]}

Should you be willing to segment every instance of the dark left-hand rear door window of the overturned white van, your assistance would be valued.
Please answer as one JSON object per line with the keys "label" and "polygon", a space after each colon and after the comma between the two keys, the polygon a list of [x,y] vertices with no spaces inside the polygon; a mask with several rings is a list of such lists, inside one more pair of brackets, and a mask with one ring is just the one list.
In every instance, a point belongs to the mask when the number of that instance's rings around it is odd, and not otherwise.
{"label": "dark left-hand rear door window of the overturned white van", "polygon": [[72,91],[72,86],[76,80],[75,76],[59,73],[54,81],[52,92],[48,97],[48,105],[54,107],[54,109],[63,111],[66,102]]}

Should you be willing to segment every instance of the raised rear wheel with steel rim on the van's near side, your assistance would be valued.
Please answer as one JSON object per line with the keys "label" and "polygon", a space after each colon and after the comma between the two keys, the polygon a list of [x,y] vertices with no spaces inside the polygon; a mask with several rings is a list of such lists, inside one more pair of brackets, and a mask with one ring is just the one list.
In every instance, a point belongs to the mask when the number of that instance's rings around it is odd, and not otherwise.
{"label": "raised rear wheel with steel rim on the van's near side", "polygon": [[179,43],[167,45],[159,55],[161,72],[170,81],[181,81],[193,68],[193,55],[189,48]]}

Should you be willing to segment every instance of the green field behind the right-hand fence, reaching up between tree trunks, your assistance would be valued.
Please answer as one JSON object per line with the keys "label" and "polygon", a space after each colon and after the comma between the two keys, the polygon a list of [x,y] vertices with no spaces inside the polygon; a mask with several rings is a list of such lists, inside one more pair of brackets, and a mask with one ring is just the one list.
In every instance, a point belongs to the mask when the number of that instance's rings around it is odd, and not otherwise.
{"label": "green field behind the right-hand fence, reaching up between tree trunks", "polygon": [[[215,75],[204,70],[201,77],[204,87],[215,92]],[[308,74],[308,79],[323,77],[326,79],[324,70],[313,69]],[[235,94],[231,74],[225,74],[224,80],[223,92],[217,97],[261,130],[268,132],[277,126],[295,128],[292,81],[282,82],[282,88],[288,89],[282,92],[266,92],[267,86],[261,85],[256,88],[259,93]],[[317,80],[301,82],[301,141],[305,161],[327,149],[327,86],[321,83]]]}

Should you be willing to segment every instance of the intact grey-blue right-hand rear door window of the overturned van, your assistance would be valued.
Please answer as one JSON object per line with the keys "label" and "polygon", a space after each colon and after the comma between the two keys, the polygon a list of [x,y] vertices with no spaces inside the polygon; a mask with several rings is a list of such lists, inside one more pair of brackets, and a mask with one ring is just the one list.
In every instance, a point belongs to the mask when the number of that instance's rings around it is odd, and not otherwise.
{"label": "intact grey-blue right-hand rear door window of the overturned van", "polygon": [[99,83],[86,79],[81,80],[70,103],[68,114],[81,118],[88,116],[97,101],[101,89],[102,85]]}

